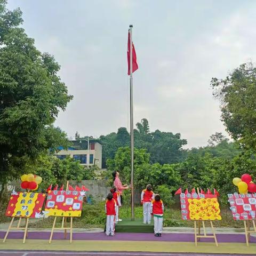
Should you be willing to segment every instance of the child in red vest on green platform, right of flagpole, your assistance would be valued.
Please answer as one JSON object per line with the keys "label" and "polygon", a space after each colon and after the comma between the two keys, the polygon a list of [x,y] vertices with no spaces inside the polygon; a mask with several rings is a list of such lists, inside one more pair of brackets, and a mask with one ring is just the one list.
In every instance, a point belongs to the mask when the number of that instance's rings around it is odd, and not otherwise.
{"label": "child in red vest on green platform, right of flagpole", "polygon": [[154,199],[154,193],[152,191],[152,186],[150,184],[147,185],[146,189],[143,189],[141,192],[141,203],[143,204],[143,223],[150,224],[151,221],[151,212],[150,212],[150,204]]}

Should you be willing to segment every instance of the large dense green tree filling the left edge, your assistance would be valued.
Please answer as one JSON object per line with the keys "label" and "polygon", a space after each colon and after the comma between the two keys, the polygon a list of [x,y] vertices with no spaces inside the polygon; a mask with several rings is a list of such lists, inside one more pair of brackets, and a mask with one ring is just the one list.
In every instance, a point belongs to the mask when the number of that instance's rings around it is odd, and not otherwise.
{"label": "large dense green tree filling the left edge", "polygon": [[[39,52],[22,24],[20,9],[0,0],[0,177],[2,188],[22,172],[22,159],[54,148],[52,124],[72,99],[57,75],[60,65]],[[49,131],[55,136],[49,138]],[[63,139],[63,134],[59,138]],[[22,164],[22,165],[21,165]]]}

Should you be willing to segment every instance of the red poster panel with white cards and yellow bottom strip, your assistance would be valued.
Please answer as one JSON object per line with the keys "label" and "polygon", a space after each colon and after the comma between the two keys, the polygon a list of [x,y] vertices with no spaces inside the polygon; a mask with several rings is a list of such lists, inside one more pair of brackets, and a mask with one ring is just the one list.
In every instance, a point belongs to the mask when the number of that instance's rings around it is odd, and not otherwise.
{"label": "red poster panel with white cards and yellow bottom strip", "polygon": [[59,217],[80,217],[84,195],[84,191],[49,191],[45,214]]}

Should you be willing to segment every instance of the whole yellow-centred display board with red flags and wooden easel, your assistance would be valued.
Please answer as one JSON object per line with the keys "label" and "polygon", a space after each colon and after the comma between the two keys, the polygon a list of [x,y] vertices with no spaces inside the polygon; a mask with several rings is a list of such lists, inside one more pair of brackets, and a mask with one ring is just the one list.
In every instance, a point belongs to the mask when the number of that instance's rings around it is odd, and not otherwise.
{"label": "whole yellow-centred display board with red flags and wooden easel", "polygon": [[[201,189],[201,193],[199,193],[198,188],[197,193],[195,189],[191,193],[189,193],[188,189],[185,193],[181,193],[181,189],[178,191],[175,194],[180,194],[182,219],[194,220],[195,245],[197,246],[198,239],[200,238],[214,238],[215,245],[218,246],[212,222],[213,220],[221,220],[217,193],[212,194],[210,189],[207,189],[207,193],[204,193]],[[205,221],[210,221],[213,235],[206,234]],[[203,227],[203,235],[201,234],[201,227]]]}

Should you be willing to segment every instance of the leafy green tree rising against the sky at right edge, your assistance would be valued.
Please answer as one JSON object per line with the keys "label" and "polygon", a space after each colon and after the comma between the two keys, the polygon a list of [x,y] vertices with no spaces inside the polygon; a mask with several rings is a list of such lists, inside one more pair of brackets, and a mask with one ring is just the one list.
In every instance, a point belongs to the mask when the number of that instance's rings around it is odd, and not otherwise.
{"label": "leafy green tree rising against the sky at right edge", "polygon": [[221,119],[231,137],[244,148],[256,147],[256,68],[244,63],[226,78],[212,78],[214,97],[221,102]]}

